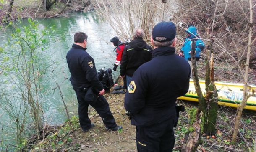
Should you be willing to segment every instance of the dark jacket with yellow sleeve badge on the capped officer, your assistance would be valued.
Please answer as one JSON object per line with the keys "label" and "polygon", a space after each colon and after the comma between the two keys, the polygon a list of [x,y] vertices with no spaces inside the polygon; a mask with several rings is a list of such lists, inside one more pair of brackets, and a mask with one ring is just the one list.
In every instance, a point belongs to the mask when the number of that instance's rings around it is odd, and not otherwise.
{"label": "dark jacket with yellow sleeve badge on the capped officer", "polygon": [[154,49],[152,60],[133,74],[124,103],[133,114],[131,124],[149,126],[175,117],[176,98],[188,92],[190,66],[174,52],[174,47]]}

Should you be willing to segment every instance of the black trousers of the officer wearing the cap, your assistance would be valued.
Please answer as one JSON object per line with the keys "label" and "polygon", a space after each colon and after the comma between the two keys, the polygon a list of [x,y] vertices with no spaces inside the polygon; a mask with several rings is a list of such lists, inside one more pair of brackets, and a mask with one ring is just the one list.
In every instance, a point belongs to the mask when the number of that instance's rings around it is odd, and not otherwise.
{"label": "black trousers of the officer wearing the cap", "polygon": [[174,116],[152,126],[136,126],[136,145],[138,152],[172,152],[175,137],[173,127],[177,120]]}

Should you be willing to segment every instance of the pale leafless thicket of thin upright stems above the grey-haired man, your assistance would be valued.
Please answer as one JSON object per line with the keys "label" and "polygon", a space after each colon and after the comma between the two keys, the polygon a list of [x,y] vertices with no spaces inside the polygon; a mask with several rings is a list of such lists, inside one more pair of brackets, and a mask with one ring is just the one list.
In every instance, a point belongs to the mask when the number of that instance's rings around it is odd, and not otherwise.
{"label": "pale leafless thicket of thin upright stems above the grey-haired man", "polygon": [[123,40],[132,38],[135,28],[142,28],[149,39],[154,25],[172,16],[173,11],[167,10],[175,10],[174,3],[160,0],[94,0],[92,3]]}

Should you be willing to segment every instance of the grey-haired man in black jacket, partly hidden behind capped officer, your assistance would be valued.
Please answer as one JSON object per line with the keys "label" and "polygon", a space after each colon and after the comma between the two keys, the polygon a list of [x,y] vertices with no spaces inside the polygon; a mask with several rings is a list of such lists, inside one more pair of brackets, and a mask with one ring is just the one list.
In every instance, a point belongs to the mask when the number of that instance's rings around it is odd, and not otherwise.
{"label": "grey-haired man in black jacket, partly hidden behind capped officer", "polygon": [[152,58],[152,53],[150,52],[152,47],[143,40],[143,37],[144,31],[139,28],[136,29],[133,32],[133,40],[123,49],[120,76],[122,78],[126,76],[127,86],[131,82],[134,71]]}

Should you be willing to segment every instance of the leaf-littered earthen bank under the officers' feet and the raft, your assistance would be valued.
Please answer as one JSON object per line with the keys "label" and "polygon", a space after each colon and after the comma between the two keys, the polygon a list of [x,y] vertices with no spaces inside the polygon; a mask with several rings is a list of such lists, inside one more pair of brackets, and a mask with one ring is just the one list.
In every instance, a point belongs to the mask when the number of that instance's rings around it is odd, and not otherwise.
{"label": "leaf-littered earthen bank under the officers' feet and the raft", "polygon": [[[121,82],[120,82],[121,83]],[[80,152],[136,152],[135,126],[125,115],[123,107],[124,94],[105,94],[110,105],[110,110],[117,124],[123,129],[119,132],[111,132],[104,128],[102,119],[97,112],[91,108],[89,118],[95,127],[88,132],[81,132],[78,116],[71,118],[72,127],[68,122],[58,127],[50,128],[43,140],[33,143],[34,151],[80,151]],[[175,146],[173,152],[179,152],[185,142],[186,132],[189,130],[189,117],[197,103],[178,101],[185,106],[185,112],[180,113],[180,119],[175,128]],[[235,108],[219,106],[216,136],[202,135],[198,152],[242,152],[249,151],[255,146],[256,114],[255,111],[243,111],[240,123],[240,134],[237,144],[231,144],[232,127],[235,119]],[[74,130],[74,131],[72,131]],[[29,145],[29,144],[28,144]],[[38,146],[40,145],[40,147]]]}

